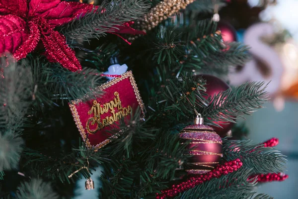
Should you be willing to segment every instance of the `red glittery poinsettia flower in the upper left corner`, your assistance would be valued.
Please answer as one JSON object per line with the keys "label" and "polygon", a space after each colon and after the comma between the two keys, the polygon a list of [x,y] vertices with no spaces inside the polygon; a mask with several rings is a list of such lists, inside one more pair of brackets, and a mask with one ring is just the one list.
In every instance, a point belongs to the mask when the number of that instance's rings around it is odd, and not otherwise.
{"label": "red glittery poinsettia flower in the upper left corner", "polygon": [[[81,69],[65,37],[54,28],[92,8],[91,4],[61,0],[0,0],[0,55],[8,51],[15,59],[22,59],[41,40],[49,61],[71,71]],[[126,33],[127,28],[124,25],[123,31],[117,32]]]}

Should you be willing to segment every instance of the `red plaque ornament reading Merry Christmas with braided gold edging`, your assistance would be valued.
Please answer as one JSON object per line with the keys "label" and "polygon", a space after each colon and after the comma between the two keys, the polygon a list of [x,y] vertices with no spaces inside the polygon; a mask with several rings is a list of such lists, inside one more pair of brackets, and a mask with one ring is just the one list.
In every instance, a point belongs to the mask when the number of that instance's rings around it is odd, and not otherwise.
{"label": "red plaque ornament reading Merry Christmas with braided gold edging", "polygon": [[115,78],[95,89],[103,91],[100,98],[82,102],[74,100],[70,108],[75,124],[88,148],[101,148],[116,138],[109,131],[119,120],[129,119],[130,113],[141,107],[145,115],[144,104],[131,71]]}

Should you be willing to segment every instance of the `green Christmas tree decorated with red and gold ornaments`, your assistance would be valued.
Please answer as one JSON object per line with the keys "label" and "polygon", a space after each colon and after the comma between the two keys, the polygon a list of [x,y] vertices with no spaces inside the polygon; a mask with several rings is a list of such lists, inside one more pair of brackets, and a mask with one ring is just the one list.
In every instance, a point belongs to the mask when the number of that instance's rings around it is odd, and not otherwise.
{"label": "green Christmas tree decorated with red and gold ornaments", "polygon": [[72,198],[80,178],[101,199],[271,198],[255,187],[285,158],[233,126],[268,97],[221,80],[250,58],[224,4],[0,0],[0,198]]}

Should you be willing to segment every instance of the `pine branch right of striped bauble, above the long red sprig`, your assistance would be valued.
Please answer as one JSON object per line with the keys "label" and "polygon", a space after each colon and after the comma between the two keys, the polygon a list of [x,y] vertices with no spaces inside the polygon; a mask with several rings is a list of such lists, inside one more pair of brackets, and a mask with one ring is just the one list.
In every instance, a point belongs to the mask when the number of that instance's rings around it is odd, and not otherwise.
{"label": "pine branch right of striped bauble, above the long red sprig", "polygon": [[262,143],[250,144],[250,140],[223,141],[224,160],[240,158],[244,168],[250,168],[254,173],[280,173],[286,169],[286,159],[279,151],[264,147]]}

